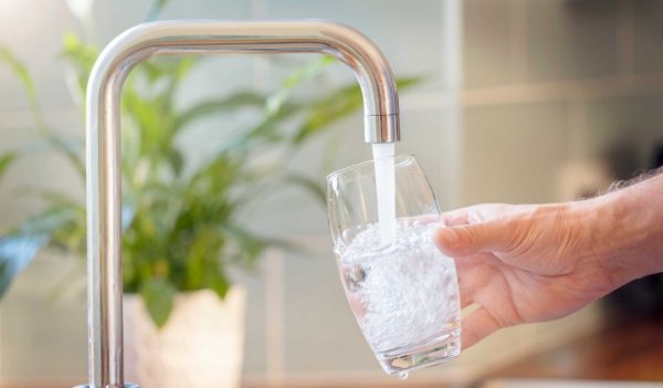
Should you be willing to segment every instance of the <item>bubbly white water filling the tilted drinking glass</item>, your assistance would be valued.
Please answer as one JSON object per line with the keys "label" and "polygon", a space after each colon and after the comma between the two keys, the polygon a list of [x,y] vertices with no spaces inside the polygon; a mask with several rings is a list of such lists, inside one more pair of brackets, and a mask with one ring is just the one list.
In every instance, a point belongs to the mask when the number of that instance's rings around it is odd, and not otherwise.
{"label": "bubbly white water filling the tilted drinking glass", "polygon": [[348,301],[378,355],[441,336],[460,321],[455,266],[434,247],[436,228],[398,220],[398,238],[383,247],[381,226],[370,224],[337,252]]}

